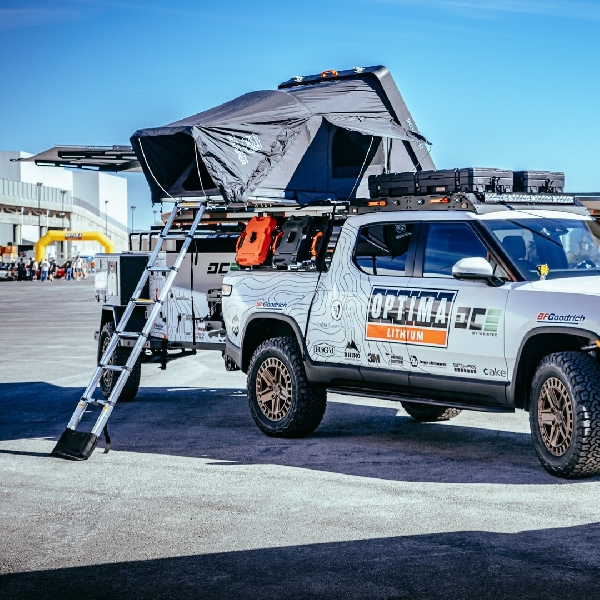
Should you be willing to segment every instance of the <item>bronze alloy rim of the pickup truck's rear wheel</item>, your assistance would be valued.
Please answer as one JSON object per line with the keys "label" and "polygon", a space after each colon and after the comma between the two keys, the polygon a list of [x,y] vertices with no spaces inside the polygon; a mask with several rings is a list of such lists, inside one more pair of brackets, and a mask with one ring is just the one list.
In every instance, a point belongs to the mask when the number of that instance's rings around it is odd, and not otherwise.
{"label": "bronze alloy rim of the pickup truck's rear wheel", "polygon": [[292,377],[285,364],[271,356],[256,373],[256,400],[271,421],[285,419],[292,406]]}

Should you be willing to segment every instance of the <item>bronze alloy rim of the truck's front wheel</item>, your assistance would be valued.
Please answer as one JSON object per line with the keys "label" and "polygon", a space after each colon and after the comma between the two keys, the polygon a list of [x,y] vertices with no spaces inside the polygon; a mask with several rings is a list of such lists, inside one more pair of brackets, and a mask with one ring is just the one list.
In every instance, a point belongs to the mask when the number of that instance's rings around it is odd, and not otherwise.
{"label": "bronze alloy rim of the truck's front wheel", "polygon": [[557,377],[549,377],[542,385],[538,423],[548,452],[562,456],[573,438],[573,404],[567,387]]}

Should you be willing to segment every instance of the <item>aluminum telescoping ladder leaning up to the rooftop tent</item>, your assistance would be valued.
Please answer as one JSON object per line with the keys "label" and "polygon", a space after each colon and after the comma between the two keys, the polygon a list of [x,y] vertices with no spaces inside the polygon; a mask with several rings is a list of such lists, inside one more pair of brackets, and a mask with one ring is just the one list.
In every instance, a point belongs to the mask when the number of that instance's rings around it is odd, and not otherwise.
{"label": "aluminum telescoping ladder leaning up to the rooftop tent", "polygon": [[[202,214],[204,213],[205,208],[206,206],[203,202],[175,202],[171,215],[165,223],[165,226],[157,240],[156,247],[148,258],[148,263],[146,264],[146,268],[144,269],[142,277],[140,278],[131,299],[127,303],[127,307],[125,308],[123,316],[119,320],[119,323],[115,328],[106,350],[104,351],[104,354],[98,363],[96,372],[85,389],[83,396],[81,396],[81,399],[77,404],[77,408],[75,409],[67,428],[62,433],[56,446],[52,450],[52,455],[69,460],[87,460],[96,448],[98,439],[103,431],[106,437],[105,452],[108,452],[108,449],[110,448],[110,437],[108,436],[106,424],[115,407],[115,404],[117,403],[117,399],[123,390],[123,387],[127,383],[129,374],[133,370],[136,361],[144,350],[144,345],[150,335],[154,321],[156,321],[156,318],[163,308],[163,304],[169,294],[169,291],[171,290],[173,282],[175,281],[179,267],[181,266],[185,255],[187,254],[188,248],[190,247],[192,239],[194,238],[194,234],[196,233],[196,229],[198,228],[200,220],[202,219]],[[173,223],[175,222],[177,215],[181,213],[182,209],[192,209],[195,211],[192,224],[187,232],[172,233],[171,229],[173,227]],[[183,240],[183,244],[172,267],[157,267],[156,261],[165,240]],[[140,296],[144,286],[146,285],[150,273],[152,272],[169,272],[169,274],[157,299],[153,300],[151,298],[141,298]],[[146,323],[139,332],[126,331],[127,323],[133,315],[134,310],[138,306],[152,307],[149,312],[146,312]],[[119,347],[122,338],[136,338],[137,341],[125,365],[118,366],[111,364],[111,359]],[[105,371],[117,371],[119,372],[119,377],[107,399],[101,400],[93,398],[94,391],[96,390],[96,387],[98,386],[98,383],[100,382],[100,379]],[[79,425],[79,422],[81,421],[81,418],[83,417],[83,414],[89,405],[102,406],[102,410],[100,411],[100,415],[96,420],[96,424],[90,433],[76,431],[77,426]]]}

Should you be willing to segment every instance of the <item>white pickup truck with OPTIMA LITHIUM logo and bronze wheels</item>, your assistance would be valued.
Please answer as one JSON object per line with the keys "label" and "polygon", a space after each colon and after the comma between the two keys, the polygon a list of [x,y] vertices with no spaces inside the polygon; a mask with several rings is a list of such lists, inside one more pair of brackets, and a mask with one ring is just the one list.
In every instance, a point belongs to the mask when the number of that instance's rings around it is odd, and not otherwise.
{"label": "white pickup truck with OPTIMA LITHIUM logo and bronze wheels", "polygon": [[377,204],[350,208],[327,265],[225,275],[226,356],[258,427],[311,433],[328,390],[421,421],[519,408],[550,473],[600,472],[600,226],[586,209],[567,195]]}

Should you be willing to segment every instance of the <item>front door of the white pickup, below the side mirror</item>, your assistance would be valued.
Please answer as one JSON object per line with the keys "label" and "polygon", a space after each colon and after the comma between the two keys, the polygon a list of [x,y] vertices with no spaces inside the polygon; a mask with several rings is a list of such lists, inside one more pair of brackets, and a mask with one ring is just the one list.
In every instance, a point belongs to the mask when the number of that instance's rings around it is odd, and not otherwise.
{"label": "front door of the white pickup, below the side mirror", "polygon": [[417,336],[407,339],[413,393],[431,396],[433,390],[440,397],[504,402],[504,318],[511,286],[452,277],[458,260],[475,256],[486,258],[495,274],[508,280],[471,223],[433,222],[421,228],[407,289],[406,325]]}

